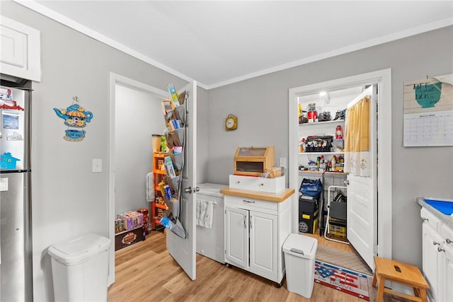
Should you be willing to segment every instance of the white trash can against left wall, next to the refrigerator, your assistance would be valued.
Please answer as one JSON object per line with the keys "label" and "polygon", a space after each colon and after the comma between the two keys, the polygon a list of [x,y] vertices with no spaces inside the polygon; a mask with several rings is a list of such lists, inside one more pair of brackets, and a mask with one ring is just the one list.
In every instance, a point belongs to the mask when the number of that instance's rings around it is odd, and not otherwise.
{"label": "white trash can against left wall, next to the refrigerator", "polygon": [[107,301],[110,239],[87,233],[52,245],[55,301]]}

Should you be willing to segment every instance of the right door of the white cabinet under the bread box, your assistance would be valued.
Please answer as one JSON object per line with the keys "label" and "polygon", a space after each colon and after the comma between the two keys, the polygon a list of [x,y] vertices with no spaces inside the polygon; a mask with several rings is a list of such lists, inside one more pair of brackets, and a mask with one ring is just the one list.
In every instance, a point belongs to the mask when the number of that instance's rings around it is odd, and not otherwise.
{"label": "right door of the white cabinet under the bread box", "polygon": [[250,268],[277,279],[277,216],[250,211]]}

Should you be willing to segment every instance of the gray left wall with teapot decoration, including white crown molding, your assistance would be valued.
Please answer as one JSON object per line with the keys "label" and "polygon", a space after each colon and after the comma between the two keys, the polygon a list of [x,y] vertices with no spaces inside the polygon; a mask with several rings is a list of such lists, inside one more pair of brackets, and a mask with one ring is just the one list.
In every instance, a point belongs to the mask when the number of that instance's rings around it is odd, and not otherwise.
{"label": "gray left wall with teapot decoration, including white crown molding", "polygon": [[[108,236],[110,71],[164,91],[187,82],[11,1],[1,1],[1,14],[41,32],[42,81],[33,83],[33,282],[35,301],[52,301],[47,248],[81,233]],[[67,127],[52,110],[74,95],[94,115],[78,143],[64,141]],[[91,173],[93,158],[103,160],[102,173]]]}

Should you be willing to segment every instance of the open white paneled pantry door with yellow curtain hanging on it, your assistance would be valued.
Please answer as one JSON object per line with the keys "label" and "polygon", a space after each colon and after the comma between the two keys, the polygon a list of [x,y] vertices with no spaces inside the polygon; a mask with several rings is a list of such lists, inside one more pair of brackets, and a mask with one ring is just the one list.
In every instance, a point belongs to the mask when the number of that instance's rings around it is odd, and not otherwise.
{"label": "open white paneled pantry door with yellow curtain hanging on it", "polygon": [[[369,177],[348,173],[348,240],[374,272],[374,245],[377,245],[377,85],[369,86],[348,104],[371,95],[369,104]],[[346,117],[348,118],[348,117]]]}

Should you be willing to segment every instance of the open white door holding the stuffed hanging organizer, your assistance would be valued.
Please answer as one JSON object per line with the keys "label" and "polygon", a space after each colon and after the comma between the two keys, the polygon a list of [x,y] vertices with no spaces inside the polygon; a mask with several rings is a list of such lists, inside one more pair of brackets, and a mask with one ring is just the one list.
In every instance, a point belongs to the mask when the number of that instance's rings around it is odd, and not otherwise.
{"label": "open white door holding the stuffed hanging organizer", "polygon": [[[180,222],[183,225],[186,236],[180,238],[171,231],[167,231],[167,250],[170,255],[178,262],[178,265],[182,267],[190,279],[195,280],[195,186],[196,180],[196,124],[197,124],[197,84],[188,84],[185,88],[179,90],[179,92],[185,91],[188,93],[188,99],[186,100],[186,117],[185,117],[185,146],[184,152],[184,168],[182,173],[183,183],[180,189]],[[187,191],[187,192],[185,192]]]}

